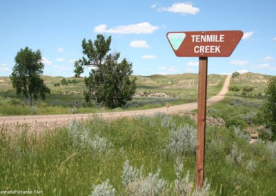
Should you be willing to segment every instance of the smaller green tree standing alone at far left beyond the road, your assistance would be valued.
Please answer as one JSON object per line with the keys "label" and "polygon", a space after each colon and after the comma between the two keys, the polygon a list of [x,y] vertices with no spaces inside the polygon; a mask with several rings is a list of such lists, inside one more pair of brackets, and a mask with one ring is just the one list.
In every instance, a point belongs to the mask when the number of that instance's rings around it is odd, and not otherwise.
{"label": "smaller green tree standing alone at far left beyond the road", "polygon": [[28,105],[32,105],[32,97],[37,99],[40,95],[42,99],[45,99],[46,93],[50,93],[50,88],[40,78],[44,68],[41,52],[39,50],[32,52],[31,49],[26,47],[17,52],[14,61],[15,65],[12,68],[10,79],[17,95],[28,98]]}

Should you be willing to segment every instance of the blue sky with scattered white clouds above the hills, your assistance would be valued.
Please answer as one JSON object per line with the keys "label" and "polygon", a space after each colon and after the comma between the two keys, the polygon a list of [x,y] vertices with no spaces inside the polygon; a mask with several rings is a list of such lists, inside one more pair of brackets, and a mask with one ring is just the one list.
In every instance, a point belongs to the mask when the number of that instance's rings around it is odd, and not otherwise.
{"label": "blue sky with scattered white clouds above the hills", "polygon": [[[111,52],[134,75],[198,73],[198,57],[176,57],[167,32],[242,30],[230,57],[209,57],[208,74],[276,75],[276,1],[1,0],[0,76],[28,46],[40,50],[44,75],[71,77],[83,38],[111,35]],[[88,75],[86,69],[82,76]]]}

